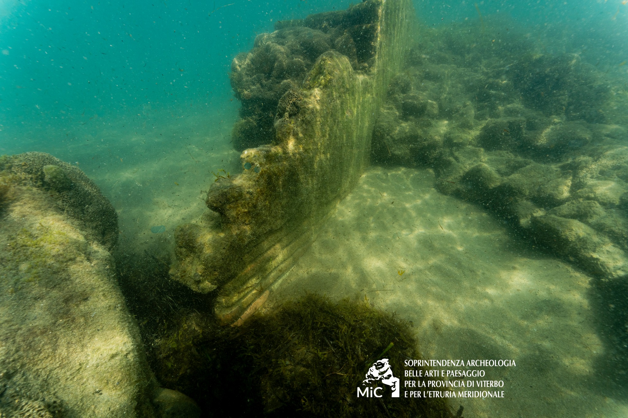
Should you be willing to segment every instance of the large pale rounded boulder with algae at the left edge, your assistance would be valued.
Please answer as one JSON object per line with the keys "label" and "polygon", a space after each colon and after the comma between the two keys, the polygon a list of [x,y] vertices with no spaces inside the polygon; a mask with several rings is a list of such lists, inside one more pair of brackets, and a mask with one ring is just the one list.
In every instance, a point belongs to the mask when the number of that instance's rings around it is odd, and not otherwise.
{"label": "large pale rounded boulder with algae at the left edge", "polygon": [[[117,216],[48,154],[0,161],[0,415],[153,417],[155,382],[117,286]],[[5,415],[6,414],[6,415]]]}

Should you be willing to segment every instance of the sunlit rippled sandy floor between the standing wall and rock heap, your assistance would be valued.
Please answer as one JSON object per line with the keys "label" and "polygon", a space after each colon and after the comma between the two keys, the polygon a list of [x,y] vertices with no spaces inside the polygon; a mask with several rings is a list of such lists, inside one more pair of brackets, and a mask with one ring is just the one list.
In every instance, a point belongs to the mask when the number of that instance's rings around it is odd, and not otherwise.
{"label": "sunlit rippled sandy floor between the standing wall and rock heap", "polygon": [[486,368],[485,379],[504,380],[504,399],[453,400],[465,417],[628,416],[595,384],[604,348],[590,278],[433,182],[428,170],[369,170],[272,300],[366,299],[411,321],[426,358],[516,360]]}

